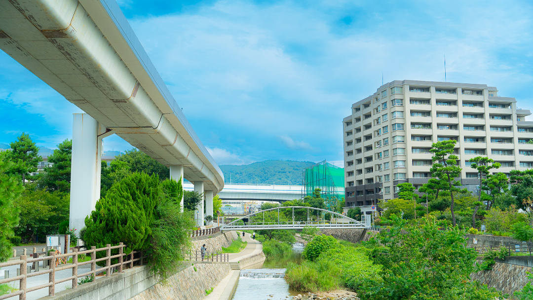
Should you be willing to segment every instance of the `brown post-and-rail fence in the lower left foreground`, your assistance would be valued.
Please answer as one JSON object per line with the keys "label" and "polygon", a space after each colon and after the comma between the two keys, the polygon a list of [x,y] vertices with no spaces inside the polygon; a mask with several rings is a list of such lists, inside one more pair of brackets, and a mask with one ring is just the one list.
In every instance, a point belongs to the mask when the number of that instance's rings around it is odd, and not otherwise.
{"label": "brown post-and-rail fence in the lower left foreground", "polygon": [[[122,272],[122,269],[123,269],[124,265],[126,265],[126,267],[130,267],[131,268],[131,267],[133,267],[133,263],[137,262],[137,261],[139,261],[139,264],[142,265],[143,264],[143,259],[146,256],[143,256],[142,252],[140,252],[140,251],[133,251],[130,254],[125,254],[124,253],[124,248],[125,247],[126,247],[126,245],[124,245],[121,242],[117,246],[111,246],[111,245],[108,244],[104,248],[96,249],[96,247],[91,247],[90,250],[84,250],[84,251],[78,251],[77,248],[74,248],[72,250],[72,252],[70,252],[70,253],[59,254],[59,255],[52,254],[50,256],[42,256],[42,257],[34,257],[34,258],[28,258],[27,255],[21,255],[20,256],[20,260],[12,260],[12,261],[8,261],[8,262],[5,262],[5,263],[0,263],[0,267],[20,265],[20,275],[17,275],[16,277],[4,278],[4,279],[0,280],[0,284],[18,280],[19,281],[19,290],[18,291],[14,291],[13,293],[10,293],[10,294],[5,294],[5,295],[0,296],[0,300],[6,299],[6,298],[10,298],[10,297],[13,297],[13,296],[17,296],[17,295],[19,295],[19,299],[20,300],[23,300],[23,299],[26,299],[26,294],[29,293],[30,291],[34,291],[34,290],[38,290],[38,289],[42,289],[42,288],[48,288],[49,296],[54,296],[55,295],[55,285],[58,284],[58,283],[71,280],[72,281],[72,288],[75,289],[75,288],[78,287],[78,278],[80,278],[80,277],[85,277],[85,276],[88,276],[88,275],[96,275],[96,274],[102,273],[102,272],[106,272],[106,276],[110,277],[112,269],[114,269],[114,268],[116,268],[117,272],[120,273],[120,272]],[[118,254],[117,255],[111,255],[111,250],[112,249],[118,249]],[[96,252],[100,252],[100,251],[105,251],[106,252],[106,256],[96,259]],[[86,261],[86,262],[78,263],[78,255],[82,255],[82,254],[83,255],[87,255],[87,254],[91,255],[91,260],[90,261]],[[124,260],[124,256],[126,256],[126,260]],[[136,256],[136,258],[135,258],[135,256]],[[72,263],[71,264],[64,264],[64,265],[60,265],[59,264],[60,259],[68,260],[68,257],[72,257]],[[111,260],[113,258],[118,258],[118,263],[112,265],[111,264]],[[48,261],[49,262],[49,269],[48,270],[28,273],[28,271],[27,271],[28,264],[38,263],[38,262],[41,262],[41,261]],[[106,262],[106,266],[105,267],[101,267],[100,269],[96,269],[96,263],[97,262],[102,262],[102,261]],[[78,267],[82,266],[82,265],[86,265],[86,264],[91,264],[91,271],[85,272],[83,274],[78,274]],[[72,275],[70,277],[59,279],[59,280],[55,279],[55,273],[56,272],[59,272],[61,270],[67,270],[67,269],[72,269]],[[38,275],[43,275],[43,274],[49,274],[48,283],[45,283],[44,285],[40,285],[40,286],[31,287],[31,288],[27,287],[27,279],[28,278],[34,277],[34,276],[38,276]]]}

